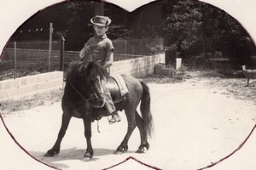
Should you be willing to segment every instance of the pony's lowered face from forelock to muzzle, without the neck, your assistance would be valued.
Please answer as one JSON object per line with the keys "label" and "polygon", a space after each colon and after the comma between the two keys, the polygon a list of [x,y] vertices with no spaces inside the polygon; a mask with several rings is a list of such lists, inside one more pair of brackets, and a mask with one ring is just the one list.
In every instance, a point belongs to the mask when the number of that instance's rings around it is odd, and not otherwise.
{"label": "pony's lowered face from forelock to muzzle, without the neck", "polygon": [[84,77],[90,87],[93,89],[91,95],[94,99],[90,99],[90,104],[94,107],[103,107],[105,105],[104,84],[106,81],[106,71],[102,65],[92,61],[89,62],[84,71]]}

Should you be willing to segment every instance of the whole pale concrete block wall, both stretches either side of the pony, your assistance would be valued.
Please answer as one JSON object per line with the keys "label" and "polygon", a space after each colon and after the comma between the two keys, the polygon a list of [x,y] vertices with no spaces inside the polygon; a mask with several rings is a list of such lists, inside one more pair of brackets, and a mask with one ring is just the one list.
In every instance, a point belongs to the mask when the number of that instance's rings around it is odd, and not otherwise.
{"label": "whole pale concrete block wall, both stretches either side of the pony", "polygon": [[[164,62],[165,54],[116,61],[113,63],[111,73],[143,77],[154,73],[155,64]],[[62,71],[0,81],[0,99],[15,99],[25,95],[37,94],[46,90],[61,88],[62,84]]]}

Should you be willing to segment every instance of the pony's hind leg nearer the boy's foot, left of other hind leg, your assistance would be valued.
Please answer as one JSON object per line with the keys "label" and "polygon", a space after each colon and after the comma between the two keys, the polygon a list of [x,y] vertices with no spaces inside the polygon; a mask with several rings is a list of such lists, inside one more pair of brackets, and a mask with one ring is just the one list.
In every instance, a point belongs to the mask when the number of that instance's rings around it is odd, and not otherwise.
{"label": "pony's hind leg nearer the boy's foot, left of other hind leg", "polygon": [[125,134],[125,139],[123,139],[114,154],[122,154],[128,150],[128,140],[130,139],[131,133],[136,127],[135,111],[125,111],[125,115],[128,122],[127,133]]}

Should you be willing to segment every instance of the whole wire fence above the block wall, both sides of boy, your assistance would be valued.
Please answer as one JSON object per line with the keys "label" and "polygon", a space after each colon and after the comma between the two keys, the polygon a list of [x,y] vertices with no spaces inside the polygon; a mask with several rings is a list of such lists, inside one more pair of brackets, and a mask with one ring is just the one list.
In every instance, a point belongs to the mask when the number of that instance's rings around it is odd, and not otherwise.
{"label": "whole wire fence above the block wall, both sides of boy", "polygon": [[[118,39],[113,41],[114,61],[134,59],[143,55],[162,53],[163,39]],[[65,51],[64,70],[79,51]],[[0,81],[49,71],[61,70],[61,41],[9,42],[0,63]]]}

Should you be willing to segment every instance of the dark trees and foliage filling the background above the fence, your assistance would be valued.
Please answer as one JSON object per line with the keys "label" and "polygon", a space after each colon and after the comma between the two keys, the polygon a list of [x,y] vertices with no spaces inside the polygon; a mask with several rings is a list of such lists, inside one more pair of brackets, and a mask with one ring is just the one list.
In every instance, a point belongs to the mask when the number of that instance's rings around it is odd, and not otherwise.
{"label": "dark trees and foliage filling the background above the fence", "polygon": [[[97,3],[73,0],[45,8],[20,26],[12,41],[48,39],[49,23],[53,23],[54,38],[62,35],[66,39],[66,50],[80,50],[94,34],[90,18],[95,15]],[[104,3],[103,12],[113,20],[108,37],[113,40],[157,37],[146,44],[153,53],[162,48],[158,37],[163,37],[165,46],[177,49],[186,61],[194,59],[191,56],[220,51],[238,65],[247,65],[251,63],[250,56],[256,53],[253,41],[236,20],[225,11],[200,1],[158,1],[132,13]],[[43,30],[36,31],[41,28]]]}

